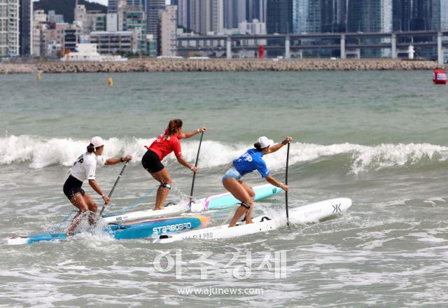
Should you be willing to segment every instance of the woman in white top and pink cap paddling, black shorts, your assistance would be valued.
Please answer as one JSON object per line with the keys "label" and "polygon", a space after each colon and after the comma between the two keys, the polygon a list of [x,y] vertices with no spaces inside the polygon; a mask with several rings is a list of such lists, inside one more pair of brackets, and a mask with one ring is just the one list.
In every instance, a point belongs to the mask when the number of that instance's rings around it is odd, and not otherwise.
{"label": "woman in white top and pink cap paddling, black shorts", "polygon": [[[76,219],[81,214],[81,212],[90,211],[89,223],[90,225],[95,223],[94,214],[97,213],[98,207],[94,202],[92,197],[88,193],[85,193],[83,188],[83,181],[89,180],[89,185],[92,186],[93,190],[101,195],[104,202],[109,203],[111,200],[106,194],[103,193],[102,189],[99,188],[97,181],[95,181],[95,171],[97,169],[97,158],[101,158],[104,151],[104,141],[102,137],[93,137],[90,139],[90,144],[87,146],[87,152],[80,155],[76,162],[74,162],[71,168],[71,174],[69,179],[66,179],[64,183],[64,194],[69,198],[71,204],[77,207],[80,212],[76,214],[73,218],[73,223],[67,231],[67,235],[73,235],[73,230],[78,226],[79,220]],[[101,158],[102,159],[102,158]],[[115,165],[119,162],[127,162],[132,160],[131,155],[127,155],[124,158],[109,158],[104,161],[104,165]]]}

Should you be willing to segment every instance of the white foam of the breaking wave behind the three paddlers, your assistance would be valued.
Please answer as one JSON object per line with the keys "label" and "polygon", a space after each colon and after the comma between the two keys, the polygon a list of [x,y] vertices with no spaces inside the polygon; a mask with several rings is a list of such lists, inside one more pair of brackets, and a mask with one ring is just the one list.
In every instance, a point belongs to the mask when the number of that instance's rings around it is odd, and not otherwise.
{"label": "white foam of the breaking wave behind the three paddlers", "polygon": [[[106,139],[105,157],[119,157],[125,154],[134,156],[139,162],[144,155],[145,145],[153,139]],[[43,168],[50,165],[70,166],[85,151],[88,140],[70,138],[45,139],[29,135],[0,138],[0,164],[29,162],[31,168]],[[183,156],[190,162],[195,161],[199,141],[182,142]],[[202,143],[200,167],[210,168],[229,165],[230,162],[250,148],[251,144],[225,144],[220,141],[205,140]],[[286,163],[285,149],[265,156],[269,169],[282,169]],[[433,144],[380,144],[363,146],[359,144],[302,144],[294,143],[290,147],[290,165],[301,162],[313,162],[334,155],[346,155],[351,174],[384,169],[387,167],[414,165],[425,160],[444,161],[448,158],[448,147]],[[175,160],[174,155],[167,162]]]}

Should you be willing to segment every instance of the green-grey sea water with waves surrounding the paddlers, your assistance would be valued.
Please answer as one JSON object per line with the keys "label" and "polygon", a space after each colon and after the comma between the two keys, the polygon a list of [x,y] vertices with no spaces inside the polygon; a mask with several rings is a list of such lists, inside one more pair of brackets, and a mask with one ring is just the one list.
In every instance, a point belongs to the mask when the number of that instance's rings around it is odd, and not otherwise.
{"label": "green-grey sea water with waves surrounding the paddlers", "polygon": [[[1,245],[0,307],[444,307],[447,92],[429,71],[0,76],[0,238],[48,232],[64,219],[73,209],[62,193],[67,170],[94,135],[106,140],[106,157],[134,156],[106,213],[139,200],[156,185],[141,167],[144,146],[171,118],[187,131],[209,128],[195,197],[223,193],[223,172],[260,135],[290,135],[289,206],[353,200],[328,221],[223,241],[162,245],[83,232]],[[199,135],[182,141],[188,161],[198,146]],[[265,160],[284,181],[286,148]],[[165,165],[176,184],[168,201],[185,199],[192,173],[173,157]],[[103,190],[121,168],[97,169]],[[281,215],[284,203],[278,195],[255,212]],[[232,212],[203,215],[220,225]]]}

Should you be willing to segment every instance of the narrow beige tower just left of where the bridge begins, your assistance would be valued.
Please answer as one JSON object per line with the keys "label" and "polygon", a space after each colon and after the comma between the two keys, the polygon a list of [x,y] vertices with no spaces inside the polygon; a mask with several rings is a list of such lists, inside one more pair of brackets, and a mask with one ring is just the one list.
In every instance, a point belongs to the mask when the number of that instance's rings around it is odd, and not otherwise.
{"label": "narrow beige tower just left of where the bridge begins", "polygon": [[158,54],[165,57],[177,55],[176,48],[177,6],[167,6],[160,11]]}

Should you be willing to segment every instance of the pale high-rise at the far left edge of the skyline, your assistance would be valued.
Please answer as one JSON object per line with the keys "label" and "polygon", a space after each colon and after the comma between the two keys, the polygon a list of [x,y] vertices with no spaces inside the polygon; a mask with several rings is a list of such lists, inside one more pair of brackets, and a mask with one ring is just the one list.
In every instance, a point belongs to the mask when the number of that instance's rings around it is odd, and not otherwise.
{"label": "pale high-rise at the far left edge of the skyline", "polygon": [[19,55],[19,0],[0,0],[0,57]]}

